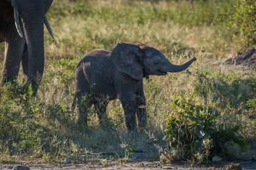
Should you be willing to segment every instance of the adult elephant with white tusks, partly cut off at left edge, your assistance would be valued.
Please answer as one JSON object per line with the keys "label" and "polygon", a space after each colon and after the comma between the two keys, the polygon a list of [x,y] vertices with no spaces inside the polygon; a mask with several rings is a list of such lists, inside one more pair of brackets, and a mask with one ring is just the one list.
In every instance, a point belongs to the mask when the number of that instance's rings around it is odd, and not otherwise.
{"label": "adult elephant with white tusks, partly cut off at left edge", "polygon": [[17,79],[20,62],[34,96],[44,72],[45,13],[52,0],[0,0],[0,43],[5,41],[3,81]]}

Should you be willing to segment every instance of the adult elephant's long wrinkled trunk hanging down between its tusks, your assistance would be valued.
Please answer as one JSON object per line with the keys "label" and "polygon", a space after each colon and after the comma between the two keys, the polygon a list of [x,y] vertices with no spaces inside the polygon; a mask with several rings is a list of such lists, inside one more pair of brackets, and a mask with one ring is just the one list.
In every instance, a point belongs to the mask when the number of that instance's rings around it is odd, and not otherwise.
{"label": "adult elephant's long wrinkled trunk hanging down between its tusks", "polygon": [[44,72],[44,11],[27,11],[22,23],[28,48],[28,79],[32,83],[34,96]]}

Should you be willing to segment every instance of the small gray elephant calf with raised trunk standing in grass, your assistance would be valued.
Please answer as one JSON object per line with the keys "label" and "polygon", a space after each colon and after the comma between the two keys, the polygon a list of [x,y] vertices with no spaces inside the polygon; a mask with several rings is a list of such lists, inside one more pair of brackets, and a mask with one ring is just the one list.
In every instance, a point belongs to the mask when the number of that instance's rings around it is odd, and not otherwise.
{"label": "small gray elephant calf with raised trunk standing in grass", "polygon": [[[155,48],[138,43],[131,45],[118,43],[112,52],[93,50],[88,53],[76,68],[76,96],[72,108],[79,104],[77,124],[87,125],[88,108],[94,104],[100,109],[100,122],[106,115],[108,101],[119,98],[125,112],[125,121],[129,132],[138,126],[147,125],[143,77],[165,75],[167,72],[179,72],[186,69],[196,58],[180,66],[169,62],[163,53]],[[90,96],[88,96],[90,94]],[[82,102],[82,96],[86,96]],[[108,98],[108,100],[106,100]],[[77,99],[77,100],[76,100]],[[104,104],[99,104],[103,102]]]}

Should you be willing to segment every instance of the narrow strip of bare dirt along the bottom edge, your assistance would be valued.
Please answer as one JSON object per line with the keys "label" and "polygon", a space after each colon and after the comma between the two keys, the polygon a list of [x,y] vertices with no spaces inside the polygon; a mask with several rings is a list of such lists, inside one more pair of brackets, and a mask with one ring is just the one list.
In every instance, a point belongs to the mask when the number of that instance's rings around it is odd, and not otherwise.
{"label": "narrow strip of bare dirt along the bottom edge", "polygon": [[[197,166],[197,167],[190,167],[189,164],[182,164],[182,163],[175,163],[175,164],[160,164],[160,162],[128,162],[128,163],[118,163],[118,164],[112,164],[108,166],[103,166],[100,163],[95,162],[88,162],[86,164],[63,164],[63,165],[52,165],[52,164],[26,164],[26,165],[20,165],[20,164],[1,164],[0,170],[4,169],[13,169],[15,166],[26,166],[30,169],[224,169],[225,166],[229,164],[236,164],[240,165],[242,169],[256,169],[256,162],[253,161],[244,161],[244,162],[218,162],[218,164],[212,164],[209,166]],[[227,169],[227,168],[225,168]],[[240,169],[240,168],[232,168],[232,169]]]}

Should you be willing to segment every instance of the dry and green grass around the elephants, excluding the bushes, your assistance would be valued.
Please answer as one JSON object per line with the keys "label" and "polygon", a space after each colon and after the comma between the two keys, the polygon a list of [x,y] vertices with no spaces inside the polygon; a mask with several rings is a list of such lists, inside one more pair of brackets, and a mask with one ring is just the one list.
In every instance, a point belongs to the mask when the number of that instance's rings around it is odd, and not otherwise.
{"label": "dry and green grass around the elephants, excluding the bushes", "polygon": [[[31,155],[42,162],[63,161],[66,157],[83,162],[86,160],[81,154],[97,152],[115,158],[97,159],[100,164],[109,165],[116,159],[130,161],[133,148],[138,146],[157,151],[168,143],[163,140],[166,114],[173,111],[175,95],[194,94],[195,103],[220,111],[221,121],[239,125],[239,133],[255,143],[255,71],[221,64],[239,46],[239,41],[227,32],[220,34],[220,25],[234,13],[235,4],[231,0],[54,1],[47,18],[55,39],[45,30],[46,64],[38,95],[29,96],[30,89],[22,83],[21,71],[15,87],[6,85],[0,89],[0,153],[5,155],[0,162],[11,161],[12,155]],[[111,51],[118,41],[141,41],[154,46],[173,64],[182,64],[192,57],[197,61],[181,73],[150,76],[144,81],[148,113],[144,132],[127,133],[118,100],[108,106],[114,131],[102,130],[93,110],[89,129],[81,131],[76,125],[77,110],[70,111],[76,66],[91,50]],[[3,56],[1,43],[1,62]],[[250,100],[252,103],[248,104]],[[4,152],[7,148],[8,153]],[[150,154],[148,157],[156,157],[155,153]]]}

